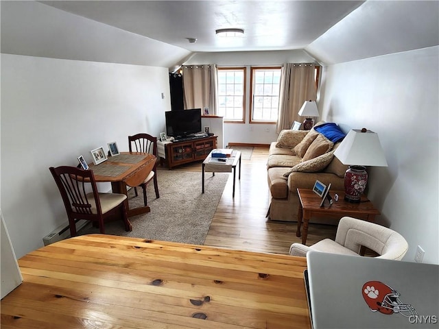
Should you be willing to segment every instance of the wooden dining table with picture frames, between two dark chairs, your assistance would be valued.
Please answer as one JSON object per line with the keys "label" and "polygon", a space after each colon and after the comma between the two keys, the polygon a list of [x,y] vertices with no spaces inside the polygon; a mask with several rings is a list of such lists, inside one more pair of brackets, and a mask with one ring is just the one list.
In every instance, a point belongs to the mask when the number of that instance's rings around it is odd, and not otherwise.
{"label": "wooden dining table with picture frames, between two dark chairs", "polygon": [[[127,186],[139,186],[156,164],[156,156],[142,152],[121,152],[99,164],[88,164],[96,182],[110,182],[112,193],[128,195]],[[130,209],[128,217],[150,212],[150,206]]]}

